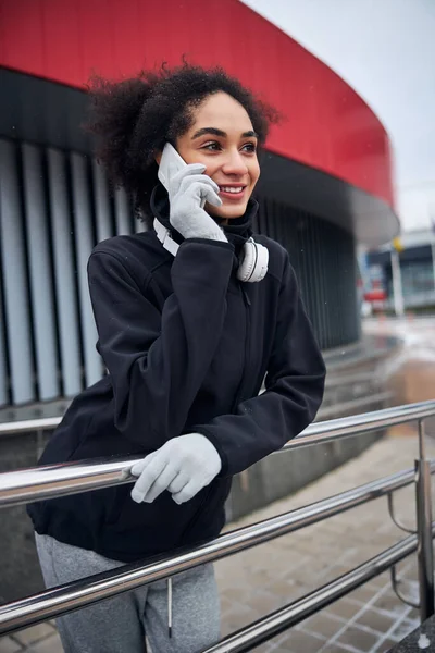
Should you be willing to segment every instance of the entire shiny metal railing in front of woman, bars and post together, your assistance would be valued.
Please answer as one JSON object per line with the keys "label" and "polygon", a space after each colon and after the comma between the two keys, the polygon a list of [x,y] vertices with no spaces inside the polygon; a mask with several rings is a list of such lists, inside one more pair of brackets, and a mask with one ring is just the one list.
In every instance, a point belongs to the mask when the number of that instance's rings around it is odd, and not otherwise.
{"label": "entire shiny metal railing in front of woman, bars and post together", "polygon": [[[424,418],[432,415],[435,415],[435,401],[312,424],[284,448],[297,448],[320,442],[331,442],[415,420],[419,423],[420,452],[419,459],[415,460],[415,469],[414,471],[407,470],[393,475],[387,479],[368,483],[359,489],[335,495],[311,506],[233,531],[194,550],[179,551],[170,558],[154,558],[154,562],[148,565],[136,563],[122,566],[110,572],[80,579],[22,601],[10,603],[0,608],[0,632],[11,632],[11,630],[25,628],[90,603],[109,599],[135,587],[148,584],[200,564],[220,559],[287,532],[315,523],[321,519],[377,498],[383,494],[390,494],[390,492],[411,482],[415,483],[417,490],[417,537],[411,535],[403,542],[383,552],[376,558],[365,563],[365,565],[369,565],[369,567],[365,567],[365,576],[360,574],[361,568],[364,567],[362,565],[346,575],[346,577],[336,579],[333,583],[316,590],[312,595],[300,600],[296,613],[296,604],[287,606],[283,611],[269,615],[265,619],[260,620],[261,623],[253,624],[244,629],[243,632],[232,636],[236,639],[229,648],[226,645],[224,649],[210,649],[208,653],[251,650],[258,645],[260,640],[270,639],[276,632],[276,628],[285,629],[296,620],[304,618],[303,615],[308,616],[307,608],[311,609],[312,613],[316,612],[323,605],[335,601],[353,589],[352,583],[357,583],[355,587],[359,587],[359,584],[365,582],[370,574],[381,572],[376,571],[376,566],[373,567],[374,560],[377,560],[377,563],[384,560],[384,565],[391,566],[415,549],[418,549],[419,555],[420,614],[422,620],[424,620],[435,612],[432,554],[434,532],[430,484],[434,463],[425,458],[423,429]],[[110,463],[104,461],[102,465],[94,459],[82,464],[65,464],[0,475],[0,483],[3,481],[3,495],[0,492],[0,505],[2,500],[3,505],[7,502],[12,505],[30,500],[35,501],[41,498],[41,496],[50,497],[59,494],[83,492],[133,481],[135,478],[129,476],[129,469],[136,459],[133,457],[122,460],[111,459]],[[37,478],[35,479],[35,477]],[[4,484],[5,480],[8,482]],[[61,491],[59,491],[60,489]],[[303,604],[303,601],[308,603]]]}

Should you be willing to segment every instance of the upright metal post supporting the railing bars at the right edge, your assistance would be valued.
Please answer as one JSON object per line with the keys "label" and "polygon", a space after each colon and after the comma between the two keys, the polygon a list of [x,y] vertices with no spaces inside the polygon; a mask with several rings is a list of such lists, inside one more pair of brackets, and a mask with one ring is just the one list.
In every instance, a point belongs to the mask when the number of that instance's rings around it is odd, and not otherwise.
{"label": "upright metal post supporting the railing bars at the right edge", "polygon": [[420,618],[425,621],[434,608],[434,556],[432,544],[431,464],[425,456],[424,423],[419,420],[419,458],[415,460],[415,500]]}

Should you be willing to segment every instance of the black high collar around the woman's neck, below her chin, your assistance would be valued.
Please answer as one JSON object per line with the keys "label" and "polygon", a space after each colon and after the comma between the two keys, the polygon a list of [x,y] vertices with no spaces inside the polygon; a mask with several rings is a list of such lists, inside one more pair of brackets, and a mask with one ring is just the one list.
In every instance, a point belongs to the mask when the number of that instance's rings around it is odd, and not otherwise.
{"label": "black high collar around the woman's neck, below her chin", "polygon": [[[152,215],[171,232],[171,237],[181,245],[184,238],[170,222],[170,202],[167,193],[160,183],[152,190],[150,207]],[[258,201],[250,198],[244,215],[231,220],[229,223],[223,227],[228,242],[234,245],[236,254],[238,254],[238,250],[252,235],[252,220],[256,217],[258,209]],[[219,219],[215,220],[219,224]]]}

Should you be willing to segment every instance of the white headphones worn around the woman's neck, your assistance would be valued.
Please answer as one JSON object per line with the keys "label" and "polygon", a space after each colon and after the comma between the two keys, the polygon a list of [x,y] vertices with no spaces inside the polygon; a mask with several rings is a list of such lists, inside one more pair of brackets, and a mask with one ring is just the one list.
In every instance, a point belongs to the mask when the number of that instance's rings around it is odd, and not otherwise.
{"label": "white headphones worn around the woman's neck", "polygon": [[[163,247],[172,256],[176,256],[179,245],[171,237],[170,230],[159,222],[157,218],[154,218],[153,227]],[[244,245],[243,257],[237,270],[237,279],[246,283],[261,281],[268,273],[268,264],[269,249],[264,245],[256,243],[251,237]]]}

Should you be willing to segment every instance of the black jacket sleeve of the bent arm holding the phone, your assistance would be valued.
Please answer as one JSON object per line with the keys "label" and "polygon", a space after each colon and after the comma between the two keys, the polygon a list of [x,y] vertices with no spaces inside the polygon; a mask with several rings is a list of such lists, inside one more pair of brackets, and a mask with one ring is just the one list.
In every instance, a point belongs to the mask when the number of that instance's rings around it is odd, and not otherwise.
{"label": "black jacket sleeve of the bent arm holding the phone", "polygon": [[185,241],[171,269],[163,311],[147,298],[123,258],[97,249],[88,279],[98,350],[114,392],[115,426],[146,449],[181,435],[217,347],[234,248]]}

